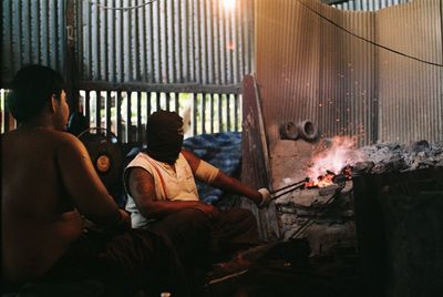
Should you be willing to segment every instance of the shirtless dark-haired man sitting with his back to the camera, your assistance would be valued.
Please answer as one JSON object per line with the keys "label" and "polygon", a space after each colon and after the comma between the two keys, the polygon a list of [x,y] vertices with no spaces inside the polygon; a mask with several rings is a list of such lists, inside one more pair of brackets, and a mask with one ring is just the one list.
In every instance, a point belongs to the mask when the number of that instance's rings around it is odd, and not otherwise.
{"label": "shirtless dark-haired man sitting with his back to the camera", "polygon": [[[130,229],[130,216],[107,193],[84,145],[64,132],[69,106],[62,76],[31,65],[11,86],[8,105],[19,127],[1,136],[2,281],[84,274],[132,281],[124,284],[131,289],[147,285],[143,277],[153,273],[155,260],[171,255],[156,254],[161,242],[152,233]],[[112,235],[91,239],[83,217]]]}

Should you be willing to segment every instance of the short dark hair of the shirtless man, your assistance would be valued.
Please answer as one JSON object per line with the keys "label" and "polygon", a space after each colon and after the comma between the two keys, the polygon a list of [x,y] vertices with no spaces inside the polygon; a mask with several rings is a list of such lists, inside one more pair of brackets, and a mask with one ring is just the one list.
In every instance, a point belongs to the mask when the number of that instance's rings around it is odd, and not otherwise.
{"label": "short dark hair of the shirtless man", "polygon": [[59,99],[63,89],[59,72],[43,65],[24,66],[12,80],[7,105],[18,122],[27,122],[43,110],[52,94]]}

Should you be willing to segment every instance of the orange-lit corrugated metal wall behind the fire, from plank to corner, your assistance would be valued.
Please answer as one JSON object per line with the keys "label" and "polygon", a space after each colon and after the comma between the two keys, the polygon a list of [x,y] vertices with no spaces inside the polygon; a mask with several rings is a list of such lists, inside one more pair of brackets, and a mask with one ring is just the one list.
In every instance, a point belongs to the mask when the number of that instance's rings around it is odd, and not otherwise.
{"label": "orange-lit corrugated metal wall behind the fire, from plank to corner", "polygon": [[306,119],[324,135],[359,133],[361,143],[370,142],[373,47],[313,11],[368,39],[373,38],[373,12],[343,12],[318,1],[278,2],[258,1],[256,12],[257,81],[270,152],[282,123]]}

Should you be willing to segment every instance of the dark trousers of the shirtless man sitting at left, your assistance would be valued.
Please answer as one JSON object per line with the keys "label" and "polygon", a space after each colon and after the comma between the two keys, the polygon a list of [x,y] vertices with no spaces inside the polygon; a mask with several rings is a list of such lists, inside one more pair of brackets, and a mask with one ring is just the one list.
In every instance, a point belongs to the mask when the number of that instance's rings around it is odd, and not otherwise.
{"label": "dark trousers of the shirtless man sitting at left", "polygon": [[[182,253],[186,254],[186,250]],[[148,296],[159,296],[162,291],[169,291],[173,296],[190,295],[186,273],[179,257],[171,249],[168,238],[146,229],[122,233],[90,231],[71,246],[41,281],[81,279],[103,281],[104,296],[132,296],[138,290]]]}

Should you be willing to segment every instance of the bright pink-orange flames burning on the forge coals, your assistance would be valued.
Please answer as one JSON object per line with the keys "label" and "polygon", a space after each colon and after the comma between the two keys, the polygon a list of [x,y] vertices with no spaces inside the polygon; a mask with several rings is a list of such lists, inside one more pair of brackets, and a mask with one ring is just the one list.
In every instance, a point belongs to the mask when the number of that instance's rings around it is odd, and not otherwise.
{"label": "bright pink-orange flames burning on the forge coals", "polygon": [[362,153],[356,150],[356,143],[349,136],[336,136],[329,148],[312,156],[306,187],[324,187],[333,184],[332,178],[340,173],[350,176],[350,165],[363,161]]}

